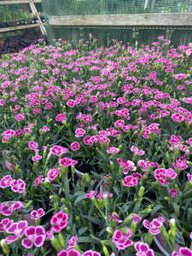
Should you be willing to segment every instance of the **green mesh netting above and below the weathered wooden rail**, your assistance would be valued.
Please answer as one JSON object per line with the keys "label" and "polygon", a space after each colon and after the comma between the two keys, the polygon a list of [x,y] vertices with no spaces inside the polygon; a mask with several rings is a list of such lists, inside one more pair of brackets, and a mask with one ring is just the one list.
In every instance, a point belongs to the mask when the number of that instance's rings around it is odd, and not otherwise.
{"label": "green mesh netting above and below the weathered wooden rail", "polygon": [[49,26],[50,16],[60,15],[126,15],[150,13],[192,13],[192,0],[42,0],[49,43],[62,38],[78,44],[92,33],[99,45],[108,39],[141,46],[165,36],[174,46],[192,42],[191,26]]}

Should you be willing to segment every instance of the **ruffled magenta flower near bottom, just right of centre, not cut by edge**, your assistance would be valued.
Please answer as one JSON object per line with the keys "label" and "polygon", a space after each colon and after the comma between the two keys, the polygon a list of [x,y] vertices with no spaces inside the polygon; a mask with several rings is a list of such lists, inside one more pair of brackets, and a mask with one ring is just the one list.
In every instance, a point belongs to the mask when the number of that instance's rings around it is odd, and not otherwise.
{"label": "ruffled magenta flower near bottom, just right of centre, not cut by edge", "polygon": [[132,236],[132,231],[128,228],[125,229],[127,230],[127,234],[122,233],[120,230],[115,230],[113,233],[113,242],[119,250],[124,250],[133,244],[133,241],[129,240],[129,237]]}

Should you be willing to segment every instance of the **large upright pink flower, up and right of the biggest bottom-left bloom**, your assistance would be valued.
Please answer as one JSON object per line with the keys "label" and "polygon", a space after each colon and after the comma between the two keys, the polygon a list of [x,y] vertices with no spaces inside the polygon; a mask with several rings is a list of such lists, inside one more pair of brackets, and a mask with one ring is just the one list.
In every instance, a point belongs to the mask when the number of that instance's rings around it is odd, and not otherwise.
{"label": "large upright pink flower, up and right of the biggest bottom-left bloom", "polygon": [[64,212],[57,212],[50,220],[50,224],[53,225],[53,230],[55,232],[60,232],[62,229],[64,229],[65,227],[67,227],[67,213]]}

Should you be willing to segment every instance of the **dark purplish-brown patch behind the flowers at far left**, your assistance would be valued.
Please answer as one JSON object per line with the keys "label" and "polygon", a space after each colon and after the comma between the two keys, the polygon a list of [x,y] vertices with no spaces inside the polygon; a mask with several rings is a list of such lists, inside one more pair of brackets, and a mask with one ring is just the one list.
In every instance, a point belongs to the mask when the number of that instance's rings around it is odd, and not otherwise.
{"label": "dark purplish-brown patch behind the flowers at far left", "polygon": [[20,37],[7,38],[0,44],[0,55],[19,52],[31,44],[38,44],[38,39],[42,38],[48,44],[47,36],[44,35],[22,35]]}

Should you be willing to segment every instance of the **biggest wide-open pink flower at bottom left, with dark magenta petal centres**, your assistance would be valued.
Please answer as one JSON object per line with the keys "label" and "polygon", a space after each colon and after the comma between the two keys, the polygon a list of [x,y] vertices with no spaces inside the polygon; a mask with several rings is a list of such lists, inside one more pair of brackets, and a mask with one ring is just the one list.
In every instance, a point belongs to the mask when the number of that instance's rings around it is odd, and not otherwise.
{"label": "biggest wide-open pink flower at bottom left, with dark magenta petal centres", "polygon": [[31,248],[33,243],[36,247],[41,247],[45,240],[45,230],[42,226],[30,226],[25,231],[26,238],[21,241],[23,247]]}

